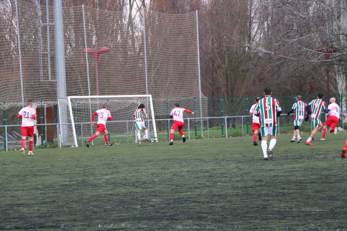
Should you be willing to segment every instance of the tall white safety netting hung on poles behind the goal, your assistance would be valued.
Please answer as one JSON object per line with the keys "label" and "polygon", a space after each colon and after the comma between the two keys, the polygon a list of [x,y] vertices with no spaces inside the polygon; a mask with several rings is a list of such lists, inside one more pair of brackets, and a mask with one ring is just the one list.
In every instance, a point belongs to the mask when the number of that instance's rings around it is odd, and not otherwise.
{"label": "tall white safety netting hung on poles behind the goal", "polygon": [[199,90],[196,12],[140,10],[129,16],[64,7],[66,86],[57,86],[54,8],[17,3],[18,20],[14,0],[0,6],[0,106],[29,98],[57,104],[57,87],[66,87],[68,96],[151,94],[155,115],[166,115],[167,98],[189,98],[185,107],[196,107],[197,117],[207,115]]}

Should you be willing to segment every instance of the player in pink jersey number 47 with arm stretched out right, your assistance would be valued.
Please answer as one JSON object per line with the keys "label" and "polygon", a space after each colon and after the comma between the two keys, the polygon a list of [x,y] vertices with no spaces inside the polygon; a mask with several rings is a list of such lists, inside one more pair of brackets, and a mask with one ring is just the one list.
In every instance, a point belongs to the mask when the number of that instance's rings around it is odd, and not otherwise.
{"label": "player in pink jersey number 47 with arm stretched out right", "polygon": [[186,110],[184,108],[180,108],[178,103],[176,103],[174,105],[175,105],[175,108],[172,109],[171,113],[170,113],[170,118],[174,118],[174,123],[172,124],[171,130],[170,130],[170,144],[169,145],[174,144],[174,132],[177,130],[177,128],[178,128],[179,134],[182,136],[183,143],[186,142],[186,137],[184,136],[184,133],[182,131],[182,128],[184,125],[183,112],[192,113],[194,115],[194,112],[191,112],[191,111]]}

